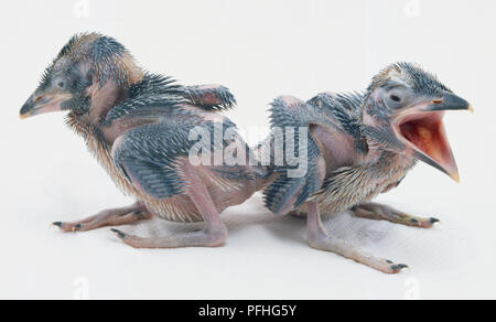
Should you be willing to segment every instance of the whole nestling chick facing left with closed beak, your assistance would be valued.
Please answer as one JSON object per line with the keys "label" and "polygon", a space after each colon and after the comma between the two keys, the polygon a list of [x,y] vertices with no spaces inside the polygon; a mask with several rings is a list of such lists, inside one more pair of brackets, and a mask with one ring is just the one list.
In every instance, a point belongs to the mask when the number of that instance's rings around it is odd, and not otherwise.
{"label": "whole nestling chick facing left with closed beak", "polygon": [[[44,73],[22,107],[21,118],[67,111],[68,127],[84,138],[117,186],[137,203],[55,225],[63,232],[83,232],[152,216],[205,222],[204,230],[153,239],[112,230],[138,248],[223,245],[227,228],[219,213],[260,190],[260,176],[244,165],[197,165],[190,158],[195,143],[190,133],[197,127],[213,133],[217,124],[234,127],[217,112],[234,105],[233,95],[223,86],[184,87],[144,72],[111,37],[74,36]],[[244,143],[234,133],[219,144],[237,141]]]}

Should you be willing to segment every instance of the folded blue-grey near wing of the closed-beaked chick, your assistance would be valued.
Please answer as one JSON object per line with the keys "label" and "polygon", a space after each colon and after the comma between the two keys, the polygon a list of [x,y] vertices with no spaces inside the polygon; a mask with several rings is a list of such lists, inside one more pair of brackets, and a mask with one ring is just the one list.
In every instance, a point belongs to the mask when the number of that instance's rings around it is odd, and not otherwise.
{"label": "folded blue-grey near wing of the closed-beaked chick", "polygon": [[[150,116],[158,117],[154,112]],[[186,192],[187,182],[182,176],[181,164],[188,160],[192,151],[195,155],[200,150],[215,155],[215,151],[224,152],[234,141],[246,147],[227,118],[220,125],[220,139],[217,138],[219,124],[205,121],[198,115],[176,110],[158,119],[154,124],[128,131],[112,148],[116,167],[134,187],[154,198],[163,200]],[[247,153],[251,153],[246,149]],[[209,171],[202,174],[224,191],[239,190],[244,181],[254,180],[249,168],[226,163],[224,160],[222,164],[208,167]]]}

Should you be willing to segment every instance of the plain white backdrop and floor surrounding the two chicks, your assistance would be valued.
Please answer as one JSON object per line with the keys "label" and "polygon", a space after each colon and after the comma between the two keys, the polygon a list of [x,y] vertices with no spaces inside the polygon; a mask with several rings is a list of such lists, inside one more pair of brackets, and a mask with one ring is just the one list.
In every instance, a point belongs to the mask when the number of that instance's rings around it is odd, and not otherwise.
{"label": "plain white backdrop and floor surrounding the two chicks", "polygon": [[[462,184],[420,164],[381,202],[443,223],[421,230],[328,218],[334,235],[411,270],[386,276],[305,245],[304,221],[278,218],[259,195],[224,217],[223,248],[136,250],[108,229],[50,228],[131,203],[63,125],[20,121],[42,71],[75,32],[122,42],[142,66],[184,85],[219,83],[241,128],[267,129],[277,96],[365,89],[396,61],[435,72],[476,114],[445,121]],[[496,298],[496,2],[490,0],[9,1],[0,10],[0,298]],[[149,222],[140,235],[196,226]]]}

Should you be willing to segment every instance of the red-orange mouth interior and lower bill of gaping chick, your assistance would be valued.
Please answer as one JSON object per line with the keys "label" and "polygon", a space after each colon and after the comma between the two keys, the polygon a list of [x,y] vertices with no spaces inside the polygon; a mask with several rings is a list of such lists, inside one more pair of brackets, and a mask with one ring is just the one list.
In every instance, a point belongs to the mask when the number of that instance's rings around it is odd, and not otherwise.
{"label": "red-orange mouth interior and lower bill of gaping chick", "polygon": [[459,181],[459,171],[443,125],[444,111],[419,111],[398,124],[401,141],[416,158]]}

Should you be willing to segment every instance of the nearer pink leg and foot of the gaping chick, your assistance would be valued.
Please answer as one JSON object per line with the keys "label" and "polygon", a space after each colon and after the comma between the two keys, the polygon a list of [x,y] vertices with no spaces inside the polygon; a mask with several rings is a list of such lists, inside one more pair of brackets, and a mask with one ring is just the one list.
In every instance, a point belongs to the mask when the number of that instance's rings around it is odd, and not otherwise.
{"label": "nearer pink leg and foot of the gaping chick", "polygon": [[403,264],[395,264],[391,260],[377,258],[357,248],[351,243],[330,237],[322,225],[319,204],[316,202],[309,202],[306,205],[309,212],[306,218],[306,229],[310,247],[319,250],[336,253],[343,257],[353,259],[385,273],[398,273],[401,269],[408,267]]}

